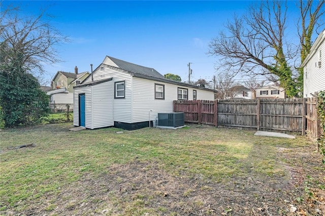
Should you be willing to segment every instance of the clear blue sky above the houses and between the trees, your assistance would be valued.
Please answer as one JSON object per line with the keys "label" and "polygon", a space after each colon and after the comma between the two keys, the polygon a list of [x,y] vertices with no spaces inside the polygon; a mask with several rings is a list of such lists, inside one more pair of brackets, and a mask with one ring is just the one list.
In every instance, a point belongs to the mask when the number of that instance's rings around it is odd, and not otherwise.
{"label": "clear blue sky above the houses and between the trees", "polygon": [[[192,62],[191,81],[211,81],[217,58],[207,54],[209,42],[252,3],[256,1],[4,1],[2,7],[19,5],[22,15],[47,9],[54,15],[51,24],[71,39],[57,48],[63,62],[45,66],[45,80],[58,70],[74,72],[75,66],[90,71],[91,63],[95,68],[108,55],[163,75],[177,74],[182,81],[188,80],[187,64]],[[296,16],[297,2],[288,4],[289,15]]]}

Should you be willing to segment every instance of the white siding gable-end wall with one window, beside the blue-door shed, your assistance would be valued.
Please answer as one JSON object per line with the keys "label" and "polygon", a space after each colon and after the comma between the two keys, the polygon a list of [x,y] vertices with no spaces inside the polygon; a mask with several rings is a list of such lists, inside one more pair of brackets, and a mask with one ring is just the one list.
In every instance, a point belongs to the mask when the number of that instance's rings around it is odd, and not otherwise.
{"label": "white siding gable-end wall with one window, beside the blue-door shed", "polygon": [[[104,66],[104,70],[98,69],[93,71],[93,81],[113,78],[113,91],[111,92],[114,98],[114,82],[125,81],[125,98],[114,99],[114,121],[132,123],[132,77],[130,74],[108,68]],[[91,82],[89,76],[86,82]]]}

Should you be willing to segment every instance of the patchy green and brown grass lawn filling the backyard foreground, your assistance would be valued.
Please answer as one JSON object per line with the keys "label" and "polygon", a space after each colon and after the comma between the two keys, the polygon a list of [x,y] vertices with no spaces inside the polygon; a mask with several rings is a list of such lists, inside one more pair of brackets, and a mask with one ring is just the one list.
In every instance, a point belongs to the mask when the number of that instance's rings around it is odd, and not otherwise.
{"label": "patchy green and brown grass lawn filling the backyard foreground", "polygon": [[[0,212],[325,214],[324,166],[304,137],[198,125],[135,131],[71,127],[0,131]],[[34,145],[17,148],[24,144]]]}

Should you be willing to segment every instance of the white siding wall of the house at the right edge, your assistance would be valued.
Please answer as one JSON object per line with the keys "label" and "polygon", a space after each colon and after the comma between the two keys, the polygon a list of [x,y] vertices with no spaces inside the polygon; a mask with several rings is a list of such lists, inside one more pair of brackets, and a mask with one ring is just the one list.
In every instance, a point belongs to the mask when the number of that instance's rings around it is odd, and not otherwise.
{"label": "white siding wall of the house at the right edge", "polygon": [[[319,61],[319,50],[321,50],[320,67],[315,65]],[[312,97],[311,94],[322,90],[325,90],[325,40],[304,67],[304,97]]]}

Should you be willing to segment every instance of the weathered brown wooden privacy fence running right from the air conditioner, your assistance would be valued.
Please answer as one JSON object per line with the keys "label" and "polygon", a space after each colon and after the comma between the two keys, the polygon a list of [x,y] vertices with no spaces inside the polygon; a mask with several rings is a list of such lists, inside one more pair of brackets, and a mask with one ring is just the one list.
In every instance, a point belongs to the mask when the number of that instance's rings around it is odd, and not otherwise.
{"label": "weathered brown wooden privacy fence running right from the air conditioner", "polygon": [[175,100],[174,112],[183,112],[184,121],[191,123],[320,134],[316,102],[306,98]]}

